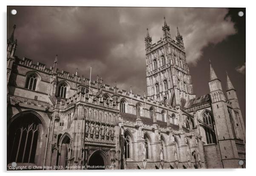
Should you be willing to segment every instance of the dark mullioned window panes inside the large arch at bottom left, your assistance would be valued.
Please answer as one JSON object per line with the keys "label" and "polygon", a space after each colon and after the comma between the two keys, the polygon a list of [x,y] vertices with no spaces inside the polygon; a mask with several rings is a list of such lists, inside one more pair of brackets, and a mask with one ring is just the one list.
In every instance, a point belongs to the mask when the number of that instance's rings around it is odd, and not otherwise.
{"label": "dark mullioned window panes inside the large arch at bottom left", "polygon": [[32,114],[12,122],[8,136],[8,162],[35,163],[39,125],[39,120]]}

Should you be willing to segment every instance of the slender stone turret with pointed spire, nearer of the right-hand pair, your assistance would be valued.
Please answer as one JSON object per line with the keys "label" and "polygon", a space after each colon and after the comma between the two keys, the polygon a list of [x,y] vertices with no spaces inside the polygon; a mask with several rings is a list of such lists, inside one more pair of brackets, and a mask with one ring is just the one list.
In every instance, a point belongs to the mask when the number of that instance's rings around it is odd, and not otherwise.
{"label": "slender stone turret with pointed spire, nearer of the right-hand pair", "polygon": [[227,100],[222,91],[221,81],[216,76],[211,63],[209,87],[222,166],[223,168],[238,168],[239,157]]}

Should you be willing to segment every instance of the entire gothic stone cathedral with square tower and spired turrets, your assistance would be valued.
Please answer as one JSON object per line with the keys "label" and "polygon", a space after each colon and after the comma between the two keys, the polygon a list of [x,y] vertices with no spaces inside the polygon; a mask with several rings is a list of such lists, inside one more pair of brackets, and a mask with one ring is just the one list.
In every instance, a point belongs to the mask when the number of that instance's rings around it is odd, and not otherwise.
{"label": "entire gothic stone cathedral with square tower and spired turrets", "polygon": [[[147,93],[138,95],[15,55],[7,40],[7,169],[245,168],[236,90],[209,64],[209,93],[193,94],[182,35],[145,36]],[[205,82],[206,84],[207,82]]]}

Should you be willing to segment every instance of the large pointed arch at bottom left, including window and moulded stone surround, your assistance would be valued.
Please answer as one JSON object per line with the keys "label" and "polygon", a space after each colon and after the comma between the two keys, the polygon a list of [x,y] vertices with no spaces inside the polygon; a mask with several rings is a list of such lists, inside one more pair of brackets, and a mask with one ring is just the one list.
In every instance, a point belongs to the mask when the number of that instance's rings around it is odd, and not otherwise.
{"label": "large pointed arch at bottom left, including window and moulded stone surround", "polygon": [[7,125],[7,162],[37,163],[44,143],[46,124],[34,110],[14,115]]}

